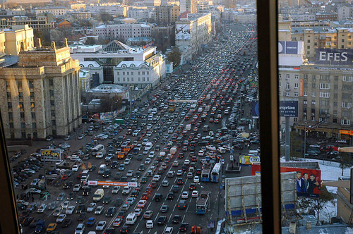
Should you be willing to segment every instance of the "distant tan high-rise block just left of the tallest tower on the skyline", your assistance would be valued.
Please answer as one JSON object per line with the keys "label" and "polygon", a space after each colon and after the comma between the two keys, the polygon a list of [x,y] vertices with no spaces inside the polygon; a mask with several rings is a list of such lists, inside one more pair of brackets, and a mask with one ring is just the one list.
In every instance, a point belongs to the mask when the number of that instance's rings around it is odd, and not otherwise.
{"label": "distant tan high-rise block just left of the tallest tower on the skyline", "polygon": [[180,7],[178,5],[160,5],[153,10],[153,20],[158,25],[174,24],[179,17]]}

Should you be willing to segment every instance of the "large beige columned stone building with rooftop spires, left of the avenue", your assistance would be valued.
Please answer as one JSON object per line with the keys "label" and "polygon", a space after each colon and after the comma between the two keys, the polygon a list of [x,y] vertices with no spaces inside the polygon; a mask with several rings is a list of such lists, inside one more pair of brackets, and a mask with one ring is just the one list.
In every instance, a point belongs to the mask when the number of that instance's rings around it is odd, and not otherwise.
{"label": "large beige columned stone building with rooftop spires, left of the avenue", "polygon": [[0,110],[6,138],[66,136],[81,123],[78,60],[67,47],[25,51],[0,69]]}

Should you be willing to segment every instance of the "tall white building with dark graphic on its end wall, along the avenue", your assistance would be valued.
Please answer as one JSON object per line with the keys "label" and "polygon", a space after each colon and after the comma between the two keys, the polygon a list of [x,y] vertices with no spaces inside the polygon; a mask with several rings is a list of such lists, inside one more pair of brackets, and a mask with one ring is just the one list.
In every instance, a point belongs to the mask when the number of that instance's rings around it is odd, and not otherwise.
{"label": "tall white building with dark graphic on its end wall, along the avenue", "polygon": [[188,14],[175,23],[175,44],[181,50],[184,62],[191,61],[212,39],[211,13]]}

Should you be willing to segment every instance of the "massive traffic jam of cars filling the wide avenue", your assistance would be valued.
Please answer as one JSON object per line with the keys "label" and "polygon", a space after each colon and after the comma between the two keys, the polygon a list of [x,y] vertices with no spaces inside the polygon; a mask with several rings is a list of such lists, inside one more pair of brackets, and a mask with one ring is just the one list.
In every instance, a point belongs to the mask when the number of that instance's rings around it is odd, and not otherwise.
{"label": "massive traffic jam of cars filling the wide avenue", "polygon": [[257,97],[249,87],[256,39],[254,25],[225,25],[186,72],[150,90],[128,113],[84,123],[65,142],[49,139],[42,149],[62,150],[63,161],[19,153],[11,166],[23,233],[215,230],[225,216],[220,186],[234,176],[225,166],[236,164],[246,146],[258,148],[257,133],[239,135]]}

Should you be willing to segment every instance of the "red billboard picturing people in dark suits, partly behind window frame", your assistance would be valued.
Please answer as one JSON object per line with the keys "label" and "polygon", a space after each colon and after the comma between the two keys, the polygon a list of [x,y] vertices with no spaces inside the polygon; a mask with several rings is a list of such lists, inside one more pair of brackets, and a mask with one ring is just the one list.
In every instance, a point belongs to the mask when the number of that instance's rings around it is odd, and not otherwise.
{"label": "red billboard picturing people in dark suits, partly behind window frame", "polygon": [[[280,167],[280,172],[297,172],[297,196],[298,197],[319,197],[321,188],[321,170]],[[261,175],[261,165],[251,165],[251,175]]]}

